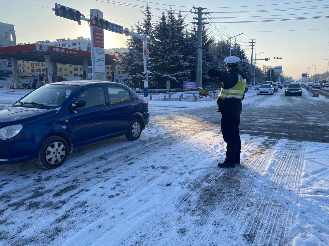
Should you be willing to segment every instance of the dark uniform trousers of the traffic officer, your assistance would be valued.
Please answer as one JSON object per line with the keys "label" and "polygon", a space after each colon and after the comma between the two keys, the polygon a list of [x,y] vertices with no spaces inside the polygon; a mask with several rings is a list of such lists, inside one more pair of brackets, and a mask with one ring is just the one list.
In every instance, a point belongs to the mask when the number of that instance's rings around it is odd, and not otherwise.
{"label": "dark uniform trousers of the traffic officer", "polygon": [[227,143],[226,158],[228,163],[240,163],[241,140],[239,135],[240,115],[221,113],[220,127]]}

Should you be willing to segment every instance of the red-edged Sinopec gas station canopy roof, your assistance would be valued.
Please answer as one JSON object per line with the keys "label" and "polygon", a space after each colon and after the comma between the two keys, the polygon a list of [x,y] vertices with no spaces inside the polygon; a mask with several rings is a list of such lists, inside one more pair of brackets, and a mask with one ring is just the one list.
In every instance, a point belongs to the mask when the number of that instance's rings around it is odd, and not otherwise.
{"label": "red-edged Sinopec gas station canopy roof", "polygon": [[[66,49],[45,44],[24,44],[13,45],[0,48],[0,59],[45,62],[45,55],[50,56],[50,60],[61,64],[83,65],[83,60],[88,60],[91,66],[91,52]],[[116,59],[115,55],[105,54],[105,64],[112,64]]]}

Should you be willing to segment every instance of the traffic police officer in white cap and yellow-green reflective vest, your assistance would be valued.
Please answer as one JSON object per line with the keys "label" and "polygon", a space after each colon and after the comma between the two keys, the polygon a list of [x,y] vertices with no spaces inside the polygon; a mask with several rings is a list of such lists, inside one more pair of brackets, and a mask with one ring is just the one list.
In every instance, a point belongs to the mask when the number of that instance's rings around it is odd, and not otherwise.
{"label": "traffic police officer in white cap and yellow-green reflective vest", "polygon": [[235,167],[240,164],[241,140],[239,135],[241,101],[244,99],[247,76],[239,69],[240,58],[229,56],[224,59],[227,72],[209,69],[208,75],[222,82],[217,97],[217,112],[220,112],[220,127],[227,143],[226,158],[219,167]]}

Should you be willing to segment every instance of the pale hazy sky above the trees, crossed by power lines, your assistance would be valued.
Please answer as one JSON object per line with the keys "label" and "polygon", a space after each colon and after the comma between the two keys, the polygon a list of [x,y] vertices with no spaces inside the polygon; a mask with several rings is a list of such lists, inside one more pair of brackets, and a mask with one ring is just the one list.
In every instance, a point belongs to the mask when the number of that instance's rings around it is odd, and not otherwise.
{"label": "pale hazy sky above the trees, crossed by power lines", "polygon": [[[309,2],[306,2],[309,1]],[[3,11],[0,17],[0,22],[10,23],[15,25],[17,43],[35,43],[41,40],[56,41],[59,38],[76,38],[83,36],[84,38],[90,37],[90,29],[88,23],[82,21],[79,26],[77,22],[67,20],[55,16],[54,0],[1,0],[6,4],[6,11]],[[117,2],[117,3],[115,3]],[[152,2],[152,3],[151,3]],[[283,5],[270,5],[260,6],[264,4],[280,4],[291,2],[305,2],[295,4]],[[36,4],[44,7],[34,6]],[[80,10],[83,14],[89,14],[90,9],[99,9],[103,11],[103,16],[110,22],[122,25],[124,28],[130,28],[130,25],[137,23],[138,20],[142,21],[143,15],[142,7],[122,6],[120,3],[133,4],[138,6],[145,6],[146,2],[137,0],[61,0],[59,2],[67,7]],[[301,73],[306,72],[308,67],[312,68],[313,74],[322,73],[327,71],[329,59],[327,46],[329,43],[329,29],[315,30],[329,28],[329,18],[321,19],[307,19],[307,20],[290,20],[290,21],[273,21],[273,22],[254,22],[254,23],[224,23],[230,21],[244,21],[246,16],[262,16],[252,17],[253,21],[262,21],[262,18],[291,18],[291,17],[315,17],[315,16],[328,16],[329,17],[329,0],[235,0],[235,1],[222,1],[222,0],[203,0],[203,1],[184,1],[184,0],[151,0],[150,7],[167,9],[169,6],[160,5],[156,3],[165,3],[172,5],[186,6],[182,9],[187,17],[186,22],[194,21],[192,18],[194,14],[190,13],[193,10],[189,6],[208,8],[211,14],[203,15],[208,18],[205,21],[215,22],[221,21],[221,24],[213,23],[208,24],[209,31],[216,39],[222,36],[230,35],[229,30],[234,33],[241,33],[239,41],[247,51],[248,58],[251,58],[251,50],[248,49],[249,39],[256,41],[256,53],[259,54],[256,58],[263,59],[266,57],[282,57],[282,59],[274,62],[272,66],[283,66],[286,76],[292,76],[295,79],[301,77]],[[251,6],[253,7],[240,7]],[[227,8],[232,7],[232,8]],[[278,10],[287,8],[301,8],[309,7],[314,9],[294,9],[294,10]],[[172,6],[173,10],[178,10],[179,7]],[[251,12],[261,11],[265,12]],[[235,12],[233,11],[246,11]],[[152,10],[154,14],[154,21],[158,20],[161,10]],[[216,13],[217,12],[217,13]],[[218,13],[220,12],[220,13]],[[230,12],[230,13],[229,13]],[[314,13],[320,12],[320,13]],[[297,14],[308,13],[301,15],[285,15],[282,14]],[[269,16],[271,15],[271,16]],[[86,16],[89,17],[89,16]],[[222,19],[214,19],[222,18]],[[227,18],[227,19],[224,19]],[[190,27],[192,24],[190,24]],[[283,30],[303,30],[303,31],[283,31]],[[220,32],[218,32],[220,31]],[[225,32],[224,32],[225,31]],[[265,32],[266,31],[266,32]],[[275,32],[274,32],[275,31]],[[105,48],[118,48],[125,47],[124,41],[127,39],[125,35],[120,35],[111,31],[105,31]],[[232,34],[233,36],[233,34]],[[233,41],[233,40],[232,40]],[[255,50],[254,50],[255,51]],[[254,53],[255,54],[255,53]],[[229,54],[228,54],[229,55]],[[274,62],[274,63],[273,63]],[[270,66],[270,61],[258,61],[257,65],[263,68],[263,64]],[[311,72],[310,72],[311,73]]]}

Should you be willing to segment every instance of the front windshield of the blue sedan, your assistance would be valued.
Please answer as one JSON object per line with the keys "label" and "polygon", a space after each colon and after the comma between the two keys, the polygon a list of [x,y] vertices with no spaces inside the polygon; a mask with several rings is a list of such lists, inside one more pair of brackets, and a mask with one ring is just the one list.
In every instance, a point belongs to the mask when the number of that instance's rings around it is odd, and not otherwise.
{"label": "front windshield of the blue sedan", "polygon": [[44,105],[48,108],[54,109],[61,106],[71,94],[80,88],[81,86],[76,85],[45,85],[20,99],[19,102],[14,104],[14,106],[40,108],[40,106],[42,107],[42,105]]}

